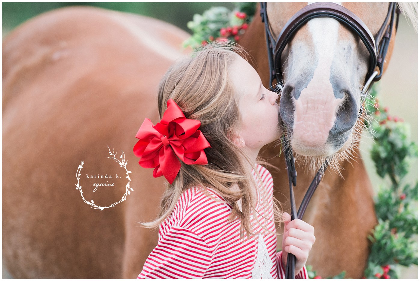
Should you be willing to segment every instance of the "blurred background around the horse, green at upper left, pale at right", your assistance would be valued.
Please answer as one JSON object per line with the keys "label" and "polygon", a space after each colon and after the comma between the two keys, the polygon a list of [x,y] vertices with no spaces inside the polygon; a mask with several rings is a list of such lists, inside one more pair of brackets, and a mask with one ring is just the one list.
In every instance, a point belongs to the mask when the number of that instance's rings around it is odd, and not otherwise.
{"label": "blurred background around the horse, green at upper left, pale at right", "polygon": [[[226,6],[233,8],[234,4],[226,2],[218,3],[3,3],[3,38],[20,23],[56,8],[70,5],[89,5],[100,8],[118,10],[150,16],[172,23],[179,28],[190,32],[186,23],[192,20],[195,13],[203,13],[212,6]],[[412,26],[401,16],[399,29],[396,35],[394,53],[388,70],[383,79],[376,84],[378,97],[381,103],[389,107],[392,116],[402,117],[409,123],[412,130],[410,139],[417,142],[418,137],[418,36]],[[375,190],[379,185],[387,184],[375,173],[373,162],[370,160],[370,147],[372,139],[369,133],[362,138],[361,157],[364,159],[371,181]],[[417,159],[412,160],[411,170],[406,180],[414,182],[418,179]],[[7,276],[7,275],[6,275]],[[3,277],[5,277],[3,275]],[[417,278],[417,267],[403,270],[401,278]]]}

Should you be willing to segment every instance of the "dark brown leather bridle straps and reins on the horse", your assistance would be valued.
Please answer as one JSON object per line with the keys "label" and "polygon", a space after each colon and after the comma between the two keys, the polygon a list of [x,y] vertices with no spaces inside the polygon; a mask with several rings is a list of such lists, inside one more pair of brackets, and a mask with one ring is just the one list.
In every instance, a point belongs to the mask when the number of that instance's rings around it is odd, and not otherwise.
{"label": "dark brown leather bridle straps and reins on the horse", "polygon": [[[379,81],[382,77],[383,62],[388,51],[388,45],[391,40],[392,30],[395,25],[398,28],[399,10],[395,2],[389,3],[388,13],[378,33],[373,36],[366,24],[350,10],[341,5],[330,2],[318,2],[305,6],[292,16],[278,35],[277,40],[274,39],[270,29],[267,15],[267,3],[260,3],[261,20],[265,25],[265,39],[268,49],[268,65],[270,68],[270,88],[269,90],[281,93],[283,83],[283,70],[281,68],[281,54],[286,45],[293,38],[294,34],[312,18],[328,17],[334,18],[343,23],[349,30],[353,31],[362,40],[363,44],[369,52],[369,67],[366,74],[365,86],[362,89],[362,96],[369,91],[373,82]],[[273,87],[273,81],[276,79],[276,87]],[[295,169],[295,161],[291,146],[285,136],[282,143],[284,146],[284,156],[286,159],[286,167],[289,177],[291,219],[302,219],[306,207],[312,198],[313,193],[318,187],[321,178],[328,167],[328,161],[318,170],[315,178],[312,180],[307,192],[304,195],[299,210],[296,212],[296,204],[294,200],[293,186],[296,186],[297,172]],[[295,278],[296,257],[292,254],[287,255],[286,278]]]}

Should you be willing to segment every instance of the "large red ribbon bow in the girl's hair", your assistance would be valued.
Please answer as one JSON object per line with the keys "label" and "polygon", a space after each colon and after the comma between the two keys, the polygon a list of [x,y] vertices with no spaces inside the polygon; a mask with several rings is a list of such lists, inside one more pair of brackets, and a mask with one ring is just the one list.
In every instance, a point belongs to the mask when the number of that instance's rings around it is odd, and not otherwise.
{"label": "large red ribbon bow in the girl's hair", "polygon": [[141,157],[143,168],[155,168],[153,177],[165,176],[169,183],[175,180],[181,169],[179,157],[185,164],[207,164],[204,148],[211,147],[203,133],[197,130],[199,120],[185,118],[184,113],[173,101],[168,100],[168,109],[156,125],[145,118],[136,134],[139,141],[134,146],[134,154]]}

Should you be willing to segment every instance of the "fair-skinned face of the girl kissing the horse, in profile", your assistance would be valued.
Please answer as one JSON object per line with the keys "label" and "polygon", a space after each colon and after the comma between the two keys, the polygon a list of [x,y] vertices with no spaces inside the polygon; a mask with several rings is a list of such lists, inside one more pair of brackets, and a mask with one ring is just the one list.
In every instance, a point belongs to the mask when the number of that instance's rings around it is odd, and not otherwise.
{"label": "fair-skinned face of the girl kissing the horse, in profile", "polygon": [[278,94],[262,86],[258,73],[239,55],[230,66],[229,76],[239,95],[243,121],[239,144],[256,158],[262,146],[280,137]]}

